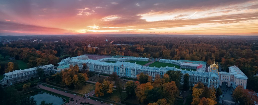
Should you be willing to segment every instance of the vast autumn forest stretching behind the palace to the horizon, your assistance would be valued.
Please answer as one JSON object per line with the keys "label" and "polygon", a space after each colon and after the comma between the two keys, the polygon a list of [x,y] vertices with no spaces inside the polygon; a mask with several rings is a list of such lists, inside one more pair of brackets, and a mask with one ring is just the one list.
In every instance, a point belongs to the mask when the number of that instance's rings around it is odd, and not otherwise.
{"label": "vast autumn forest stretching behind the palace to the horizon", "polygon": [[[1,39],[19,37],[30,39],[0,44],[0,54],[2,58],[10,56],[22,60],[28,68],[46,64],[56,66],[64,58],[83,54],[185,59],[205,61],[208,65],[215,60],[226,72],[229,66],[239,67],[248,77],[247,88],[258,91],[257,84],[252,84],[258,80],[253,77],[258,72],[257,36],[39,35],[2,36]],[[0,74],[20,69],[17,63],[9,65],[1,62]]]}

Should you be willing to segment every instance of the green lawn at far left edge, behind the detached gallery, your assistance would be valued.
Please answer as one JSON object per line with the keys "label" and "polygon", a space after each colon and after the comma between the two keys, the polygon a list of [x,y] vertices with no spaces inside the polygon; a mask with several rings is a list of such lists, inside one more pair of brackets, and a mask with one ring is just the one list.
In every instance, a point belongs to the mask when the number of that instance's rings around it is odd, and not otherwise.
{"label": "green lawn at far left edge, behind the detached gallery", "polygon": [[15,62],[18,63],[19,69],[23,70],[27,68],[27,63],[22,60],[10,60],[10,56],[6,56],[5,58],[0,55],[0,63],[7,64],[8,62]]}

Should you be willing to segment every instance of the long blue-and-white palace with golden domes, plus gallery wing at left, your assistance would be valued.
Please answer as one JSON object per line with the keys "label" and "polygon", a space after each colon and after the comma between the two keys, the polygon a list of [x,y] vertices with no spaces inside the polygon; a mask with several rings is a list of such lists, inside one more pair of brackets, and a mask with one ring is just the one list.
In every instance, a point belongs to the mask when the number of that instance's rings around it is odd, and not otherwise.
{"label": "long blue-and-white palace with golden domes, plus gallery wing at left", "polygon": [[[236,88],[238,85],[244,86],[246,88],[247,77],[245,74],[236,66],[229,67],[229,73],[219,72],[218,64],[213,64],[208,66],[208,72],[205,72],[206,62],[202,61],[188,61],[188,60],[168,60],[168,59],[160,59],[159,62],[162,63],[171,63],[180,66],[182,69],[178,69],[175,67],[149,67],[142,66],[136,63],[124,62],[124,61],[149,61],[154,59],[141,58],[141,57],[123,57],[123,58],[103,58],[98,60],[88,59],[88,56],[82,55],[77,57],[71,57],[63,59],[60,63],[58,63],[57,70],[53,69],[53,65],[51,65],[50,72],[61,72],[69,69],[70,65],[75,66],[78,65],[79,69],[83,69],[83,64],[87,65],[87,69],[93,72],[112,74],[116,72],[119,76],[136,78],[136,76],[140,73],[148,74],[152,76],[152,79],[155,78],[156,75],[163,76],[168,70],[181,71],[184,75],[186,73],[189,74],[190,85],[194,86],[197,82],[202,82],[204,85],[208,87],[217,88],[222,84],[227,86],[231,86]],[[115,61],[116,63],[107,63],[106,61]],[[158,61],[157,59],[155,61]],[[190,69],[189,71],[187,69]],[[10,73],[5,73],[4,80],[9,80],[8,76],[17,75],[20,71],[25,70],[15,70]],[[35,69],[31,69],[31,71],[35,71]],[[196,70],[196,71],[194,71]],[[27,70],[29,71],[29,70]],[[36,71],[35,71],[36,73]],[[35,75],[36,76],[36,75]],[[12,77],[14,78],[14,77]],[[26,79],[17,78],[12,81],[23,81],[29,79],[30,77],[26,77]],[[183,84],[183,76],[181,77],[180,83]],[[9,80],[10,81],[10,80]],[[11,82],[11,81],[10,81]]]}

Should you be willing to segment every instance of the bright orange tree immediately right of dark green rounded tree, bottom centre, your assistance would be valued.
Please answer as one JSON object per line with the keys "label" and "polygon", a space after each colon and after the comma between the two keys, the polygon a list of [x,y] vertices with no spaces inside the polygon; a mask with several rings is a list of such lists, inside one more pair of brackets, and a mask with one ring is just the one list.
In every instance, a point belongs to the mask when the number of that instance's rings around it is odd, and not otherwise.
{"label": "bright orange tree immediately right of dark green rounded tree, bottom centre", "polygon": [[144,100],[147,98],[148,91],[150,91],[152,88],[153,86],[151,86],[150,82],[137,86],[135,89],[137,99],[140,102],[144,102]]}

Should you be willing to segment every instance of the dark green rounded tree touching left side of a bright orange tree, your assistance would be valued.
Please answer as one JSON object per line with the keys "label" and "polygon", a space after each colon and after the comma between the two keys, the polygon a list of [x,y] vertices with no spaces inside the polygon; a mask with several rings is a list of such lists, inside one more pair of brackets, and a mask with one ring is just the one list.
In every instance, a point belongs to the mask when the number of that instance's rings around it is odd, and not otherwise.
{"label": "dark green rounded tree touching left side of a bright orange tree", "polygon": [[135,88],[136,88],[136,84],[133,81],[126,82],[125,91],[126,91],[127,97],[135,96]]}

